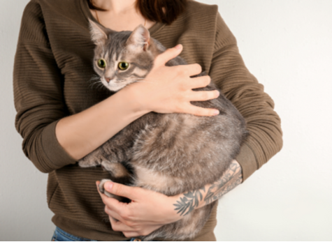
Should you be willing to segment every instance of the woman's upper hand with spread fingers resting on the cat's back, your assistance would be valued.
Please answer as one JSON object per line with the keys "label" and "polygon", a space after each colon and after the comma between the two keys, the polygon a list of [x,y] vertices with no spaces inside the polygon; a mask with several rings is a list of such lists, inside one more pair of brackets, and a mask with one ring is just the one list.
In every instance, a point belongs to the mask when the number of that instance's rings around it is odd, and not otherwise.
{"label": "woman's upper hand with spread fingers resting on the cat's back", "polygon": [[135,100],[137,108],[144,112],[188,113],[197,116],[219,114],[217,109],[196,107],[190,101],[202,101],[217,98],[219,91],[192,91],[192,89],[208,86],[210,77],[194,77],[201,73],[199,64],[185,66],[165,66],[166,62],[175,58],[182,51],[177,45],[154,60],[154,66],[142,82],[126,86],[128,97]]}

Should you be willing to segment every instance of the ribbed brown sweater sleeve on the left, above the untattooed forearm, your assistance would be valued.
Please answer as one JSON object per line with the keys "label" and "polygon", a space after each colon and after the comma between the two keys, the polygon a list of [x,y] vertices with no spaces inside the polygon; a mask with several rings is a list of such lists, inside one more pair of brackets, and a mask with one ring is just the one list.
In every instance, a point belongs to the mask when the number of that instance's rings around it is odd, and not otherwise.
{"label": "ribbed brown sweater sleeve on the left, above the untattooed forearm", "polygon": [[57,142],[55,126],[66,116],[62,74],[48,42],[41,6],[28,3],[14,66],[15,127],[25,155],[41,172],[75,163]]}

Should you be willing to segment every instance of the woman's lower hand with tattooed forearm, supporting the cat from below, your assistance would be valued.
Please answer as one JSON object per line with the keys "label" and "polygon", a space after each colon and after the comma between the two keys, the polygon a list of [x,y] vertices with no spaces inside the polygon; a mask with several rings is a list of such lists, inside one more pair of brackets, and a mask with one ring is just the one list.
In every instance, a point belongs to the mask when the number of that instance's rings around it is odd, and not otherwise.
{"label": "woman's lower hand with tattooed forearm, supporting the cat from below", "polygon": [[[180,220],[185,213],[214,202],[242,181],[242,168],[236,160],[233,160],[215,183],[205,185],[204,189],[173,197],[113,182],[106,182],[104,188],[114,195],[131,199],[131,203],[122,203],[100,192],[99,194],[105,204],[105,211],[110,218],[113,230],[123,232],[126,237],[135,237],[145,236],[163,225]],[[99,183],[99,181],[96,182],[98,191]],[[190,202],[192,197],[196,197],[198,203],[185,204],[186,209],[182,209],[183,213],[178,213],[178,206],[175,204]]]}

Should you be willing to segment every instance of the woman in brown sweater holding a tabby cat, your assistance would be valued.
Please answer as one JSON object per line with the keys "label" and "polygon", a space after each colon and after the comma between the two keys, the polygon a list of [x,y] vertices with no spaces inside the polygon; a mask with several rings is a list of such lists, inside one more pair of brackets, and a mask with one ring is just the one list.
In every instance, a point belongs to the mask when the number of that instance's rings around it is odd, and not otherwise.
{"label": "woman in brown sweater holding a tabby cat", "polygon": [[[81,169],[76,162],[147,112],[217,114],[189,103],[218,96],[217,91],[192,91],[206,86],[210,77],[243,114],[250,135],[229,170],[207,184],[203,199],[190,209],[218,199],[281,149],[273,100],[245,68],[217,7],[175,0],[169,5],[137,4],[138,8],[135,0],[31,0],[24,10],[14,70],[16,127],[24,138],[24,153],[49,174],[48,205],[59,227],[55,240],[124,240],[182,218],[173,204],[186,194],[166,197],[106,183],[106,190],[134,202],[121,204],[104,195],[101,200],[94,182],[108,174],[99,168]],[[95,75],[88,19],[116,31],[144,24],[153,38],[172,47],[157,58],[146,77],[158,85],[138,82],[112,96],[93,88],[88,82]],[[180,53],[193,64],[164,65]],[[202,69],[210,77],[190,78]],[[215,216],[216,211],[195,240],[215,240]]]}

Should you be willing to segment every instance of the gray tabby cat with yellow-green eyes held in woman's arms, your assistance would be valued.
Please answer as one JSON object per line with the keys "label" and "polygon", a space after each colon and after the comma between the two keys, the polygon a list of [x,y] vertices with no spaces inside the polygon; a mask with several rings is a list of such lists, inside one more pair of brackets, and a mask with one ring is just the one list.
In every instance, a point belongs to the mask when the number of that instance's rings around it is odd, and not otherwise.
{"label": "gray tabby cat with yellow-green eyes held in woman's arms", "polygon": [[[134,31],[116,32],[90,21],[94,50],[94,70],[110,91],[143,80],[154,59],[166,48],[142,25]],[[180,56],[166,66],[185,65]],[[201,74],[203,75],[203,74]],[[199,90],[215,90],[210,84]],[[165,195],[178,195],[214,183],[236,158],[247,133],[245,120],[222,94],[200,107],[219,109],[217,116],[158,114],[150,112],[121,130],[108,142],[80,160],[80,167],[101,165],[113,181],[147,188]],[[99,190],[113,197],[103,189]],[[125,199],[117,197],[117,199]],[[129,201],[127,201],[129,202]],[[208,220],[215,202],[196,209],[178,222],[160,227],[141,239],[155,237],[192,239]],[[180,212],[180,211],[179,211]]]}

